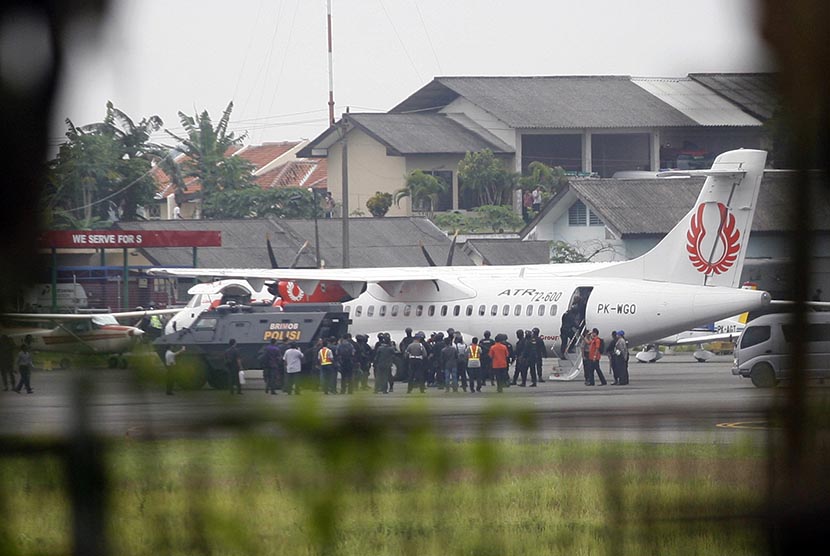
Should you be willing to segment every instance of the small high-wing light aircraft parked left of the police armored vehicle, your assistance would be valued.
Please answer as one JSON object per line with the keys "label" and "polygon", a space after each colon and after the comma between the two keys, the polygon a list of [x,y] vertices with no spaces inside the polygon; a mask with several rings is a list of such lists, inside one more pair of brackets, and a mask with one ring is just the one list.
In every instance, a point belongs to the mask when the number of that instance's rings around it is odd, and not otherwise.
{"label": "small high-wing light aircraft parked left of the police armored vehicle", "polygon": [[[110,367],[126,367],[129,353],[144,331],[120,324],[118,319],[140,320],[151,315],[179,312],[181,309],[154,309],[120,313],[4,313],[0,315],[0,334],[15,344],[27,343],[32,351],[59,354],[109,355]],[[60,361],[69,366],[69,358]]]}

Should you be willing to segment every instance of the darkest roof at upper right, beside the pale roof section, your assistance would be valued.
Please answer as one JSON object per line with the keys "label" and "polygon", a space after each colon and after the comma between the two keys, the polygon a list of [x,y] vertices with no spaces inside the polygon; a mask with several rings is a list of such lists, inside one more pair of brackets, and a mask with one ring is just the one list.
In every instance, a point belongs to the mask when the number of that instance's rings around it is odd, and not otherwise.
{"label": "darkest roof at upper right, beside the pale roof section", "polygon": [[690,73],[689,78],[762,120],[770,119],[780,104],[773,73]]}

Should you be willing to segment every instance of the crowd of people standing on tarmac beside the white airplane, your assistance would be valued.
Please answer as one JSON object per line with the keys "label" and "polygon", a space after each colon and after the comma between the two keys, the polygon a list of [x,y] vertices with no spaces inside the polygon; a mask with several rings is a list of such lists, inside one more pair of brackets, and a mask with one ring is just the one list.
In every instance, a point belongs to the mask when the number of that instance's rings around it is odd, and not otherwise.
{"label": "crowd of people standing on tarmac beside the white airplane", "polygon": [[[596,329],[585,332],[582,346],[586,385],[595,384],[595,375],[600,384],[606,384],[600,369],[603,355],[611,360],[614,384],[628,384],[628,348],[622,331],[614,332],[608,350]],[[263,369],[265,391],[270,394],[299,394],[307,388],[325,395],[352,394],[369,390],[372,374],[376,394],[392,392],[396,383],[405,384],[407,393],[436,388],[476,394],[488,385],[497,392],[510,386],[536,387],[545,382],[545,356],[538,328],[517,330],[514,341],[506,334],[494,336],[485,330],[481,338],[473,337],[469,343],[452,328],[429,337],[423,332],[413,334],[407,328],[406,336],[397,343],[388,333],[379,333],[373,344],[365,334],[354,338],[346,334],[320,339],[305,350],[295,343],[271,340],[260,350],[258,363]],[[225,365],[230,391],[241,393],[242,365],[233,341],[225,351]]]}

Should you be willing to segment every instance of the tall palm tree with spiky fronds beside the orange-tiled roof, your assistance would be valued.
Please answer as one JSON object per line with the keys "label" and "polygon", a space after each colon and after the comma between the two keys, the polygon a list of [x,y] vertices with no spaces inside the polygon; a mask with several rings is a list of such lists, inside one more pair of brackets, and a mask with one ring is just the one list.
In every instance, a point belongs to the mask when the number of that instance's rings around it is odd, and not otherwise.
{"label": "tall palm tree with spiky fronds beside the orange-tiled roof", "polygon": [[221,214],[221,211],[218,211],[219,202],[211,199],[212,196],[254,185],[251,176],[253,164],[238,156],[228,156],[231,147],[239,146],[245,140],[245,134],[237,137],[233,132],[228,132],[232,111],[233,102],[230,102],[216,127],[213,126],[207,110],[196,117],[179,112],[179,121],[186,136],[182,137],[165,130],[178,141],[175,149],[187,155],[180,169],[172,170],[176,176],[173,182],[181,190],[184,187],[184,178],[192,177],[199,180],[202,186],[202,214],[208,218],[219,218]]}

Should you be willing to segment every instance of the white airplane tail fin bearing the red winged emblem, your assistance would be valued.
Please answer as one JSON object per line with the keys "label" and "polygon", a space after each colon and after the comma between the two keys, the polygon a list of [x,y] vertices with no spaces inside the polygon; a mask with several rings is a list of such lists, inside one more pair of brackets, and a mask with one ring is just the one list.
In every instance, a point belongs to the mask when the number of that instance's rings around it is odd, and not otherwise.
{"label": "white airplane tail fin bearing the red winged emblem", "polygon": [[738,287],[766,151],[739,149],[718,156],[710,170],[661,176],[706,176],[692,210],[644,255],[596,275],[679,284]]}

